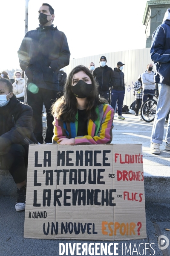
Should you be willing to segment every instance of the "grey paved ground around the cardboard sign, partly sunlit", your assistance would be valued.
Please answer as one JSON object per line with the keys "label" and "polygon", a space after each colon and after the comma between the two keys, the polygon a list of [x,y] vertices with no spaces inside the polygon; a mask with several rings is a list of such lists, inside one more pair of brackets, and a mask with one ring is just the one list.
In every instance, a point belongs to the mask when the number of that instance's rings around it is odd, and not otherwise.
{"label": "grey paved ground around the cardboard sign, partly sunlit", "polygon": [[[158,248],[158,236],[165,235],[170,239],[170,232],[165,231],[165,228],[170,229],[170,203],[163,200],[163,197],[159,197],[158,193],[161,191],[162,179],[167,179],[169,184],[170,174],[170,152],[164,151],[164,144],[161,145],[161,154],[156,156],[150,153],[150,135],[153,123],[146,123],[144,121],[138,121],[139,117],[134,115],[124,115],[126,118],[118,120],[115,115],[113,140],[112,143],[123,144],[142,144],[144,154],[144,176],[145,179],[152,179],[158,187],[157,193],[154,197],[149,197],[150,194],[149,182],[147,182],[145,190],[146,202],[146,223],[147,223],[147,238],[141,240],[129,240],[129,241],[115,241],[118,242],[118,255],[156,255],[156,256],[170,256],[170,246],[165,250]],[[166,134],[167,124],[164,125],[164,135]],[[165,182],[165,181],[164,181]],[[8,188],[7,188],[8,189]],[[166,188],[167,197],[169,187]],[[167,198],[166,197],[166,198]],[[160,198],[160,200],[157,200]],[[163,199],[161,199],[163,198]],[[109,244],[111,241],[84,241],[84,240],[40,240],[40,239],[28,239],[23,238],[24,229],[24,212],[16,212],[14,209],[15,197],[13,196],[0,196],[0,256],[58,256],[59,255],[59,243],[105,243]],[[162,201],[161,201],[162,200]],[[142,250],[138,253],[126,252],[122,253],[122,244],[133,248],[135,245],[138,248],[139,244],[147,243],[146,247],[150,247],[152,244],[154,251],[150,248],[146,250],[146,253],[142,253]],[[166,243],[166,242],[165,242]],[[142,248],[143,245],[141,245]],[[65,255],[65,254],[64,254]],[[68,255],[71,255],[68,253]],[[74,254],[76,255],[76,253]],[[89,255],[89,254],[88,254]],[[107,254],[109,255],[109,254]],[[114,254],[113,254],[114,255]]]}

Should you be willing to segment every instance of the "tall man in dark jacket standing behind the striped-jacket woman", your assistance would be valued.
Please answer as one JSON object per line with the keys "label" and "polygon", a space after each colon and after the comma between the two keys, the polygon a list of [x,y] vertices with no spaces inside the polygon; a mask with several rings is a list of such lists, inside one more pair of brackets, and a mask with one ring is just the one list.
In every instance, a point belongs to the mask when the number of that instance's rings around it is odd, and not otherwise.
{"label": "tall man in dark jacket standing behind the striped-jacket woman", "polygon": [[27,101],[33,110],[33,132],[43,143],[42,109],[46,108],[46,144],[52,144],[53,120],[50,108],[59,91],[59,70],[69,65],[69,46],[66,35],[52,25],[54,9],[43,3],[38,11],[40,25],[26,33],[18,50],[20,68],[28,77]]}

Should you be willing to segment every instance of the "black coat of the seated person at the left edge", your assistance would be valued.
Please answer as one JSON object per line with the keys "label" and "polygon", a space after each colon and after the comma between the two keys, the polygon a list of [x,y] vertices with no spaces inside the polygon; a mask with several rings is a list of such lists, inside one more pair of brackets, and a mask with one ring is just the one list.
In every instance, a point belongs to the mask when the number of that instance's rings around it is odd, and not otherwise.
{"label": "black coat of the seated person at the left edge", "polygon": [[13,94],[9,103],[0,107],[0,152],[11,144],[25,144],[26,137],[37,144],[32,132],[32,108]]}

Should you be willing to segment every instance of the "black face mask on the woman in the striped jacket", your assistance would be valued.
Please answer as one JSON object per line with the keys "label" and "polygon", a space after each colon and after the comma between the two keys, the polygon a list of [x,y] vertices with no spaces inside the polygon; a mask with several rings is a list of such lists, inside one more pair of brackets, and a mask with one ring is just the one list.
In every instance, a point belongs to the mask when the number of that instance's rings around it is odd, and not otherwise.
{"label": "black face mask on the woman in the striped jacket", "polygon": [[72,92],[75,94],[75,97],[86,98],[89,96],[92,91],[92,84],[87,84],[83,80],[79,80],[78,83],[72,86]]}

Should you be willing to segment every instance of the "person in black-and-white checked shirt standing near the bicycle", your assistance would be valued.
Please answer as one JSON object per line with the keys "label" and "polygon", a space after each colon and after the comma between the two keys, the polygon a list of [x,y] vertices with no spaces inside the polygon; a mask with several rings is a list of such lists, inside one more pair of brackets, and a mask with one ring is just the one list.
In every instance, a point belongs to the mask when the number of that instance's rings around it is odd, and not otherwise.
{"label": "person in black-and-white checked shirt standing near the bicycle", "polygon": [[139,109],[141,107],[142,96],[143,96],[141,75],[139,75],[138,80],[135,81],[133,89],[136,91],[135,115],[138,115]]}

